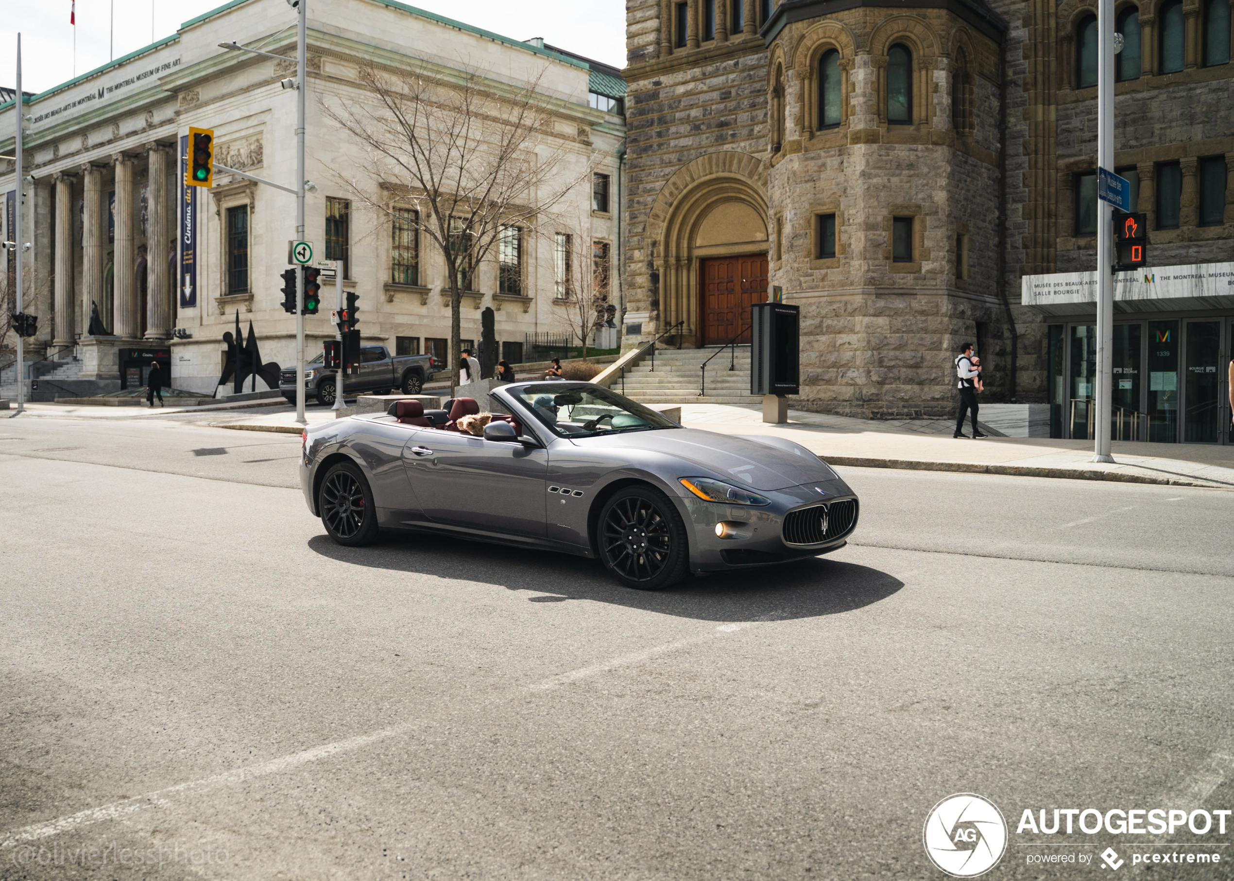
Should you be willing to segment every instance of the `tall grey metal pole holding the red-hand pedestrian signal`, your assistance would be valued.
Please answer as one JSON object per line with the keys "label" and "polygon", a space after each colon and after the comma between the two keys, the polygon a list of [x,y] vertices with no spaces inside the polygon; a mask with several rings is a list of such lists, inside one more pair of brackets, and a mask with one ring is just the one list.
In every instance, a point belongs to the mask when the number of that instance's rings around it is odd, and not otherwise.
{"label": "tall grey metal pole holding the red-hand pedestrian signal", "polygon": [[[1097,165],[1114,170],[1114,0],[1097,5]],[[1098,170],[1099,174],[1099,170]],[[1113,417],[1114,255],[1112,206],[1097,200],[1097,413],[1093,461],[1113,461],[1109,423]]]}

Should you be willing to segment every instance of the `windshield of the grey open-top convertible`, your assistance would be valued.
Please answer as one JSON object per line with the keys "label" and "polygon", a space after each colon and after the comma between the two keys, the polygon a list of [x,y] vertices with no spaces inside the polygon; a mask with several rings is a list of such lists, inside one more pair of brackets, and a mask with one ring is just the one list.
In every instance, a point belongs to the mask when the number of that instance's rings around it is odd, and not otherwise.
{"label": "windshield of the grey open-top convertible", "polygon": [[545,428],[563,438],[677,427],[654,410],[598,385],[538,383],[511,390],[511,394]]}

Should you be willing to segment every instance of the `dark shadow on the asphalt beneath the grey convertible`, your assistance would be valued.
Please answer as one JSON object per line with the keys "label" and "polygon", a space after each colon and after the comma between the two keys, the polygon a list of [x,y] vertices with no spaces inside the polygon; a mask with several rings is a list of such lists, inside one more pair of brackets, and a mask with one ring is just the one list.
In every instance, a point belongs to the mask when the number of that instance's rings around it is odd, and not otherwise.
{"label": "dark shadow on the asphalt beneath the grey convertible", "polygon": [[528,602],[591,600],[660,614],[717,622],[784,621],[851,612],[887,598],[903,582],[887,573],[827,556],[764,569],[687,577],[664,591],[612,581],[598,560],[439,536],[390,536],[368,548],[308,539],[322,556],[391,573],[500,584]]}

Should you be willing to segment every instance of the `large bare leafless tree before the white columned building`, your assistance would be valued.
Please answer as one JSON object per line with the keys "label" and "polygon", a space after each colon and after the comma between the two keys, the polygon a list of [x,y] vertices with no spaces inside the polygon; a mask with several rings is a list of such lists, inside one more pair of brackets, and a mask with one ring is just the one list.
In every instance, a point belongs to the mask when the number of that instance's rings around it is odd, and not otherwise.
{"label": "large bare leafless tree before the white columned building", "polygon": [[[323,112],[365,151],[370,180],[339,180],[360,204],[423,236],[445,263],[450,291],[450,389],[458,385],[464,290],[505,234],[528,236],[585,180],[592,158],[555,132],[547,68],[523,86],[476,70],[450,80],[421,70],[359,68],[365,99]],[[569,169],[571,157],[581,159]],[[374,183],[376,186],[374,186]]]}

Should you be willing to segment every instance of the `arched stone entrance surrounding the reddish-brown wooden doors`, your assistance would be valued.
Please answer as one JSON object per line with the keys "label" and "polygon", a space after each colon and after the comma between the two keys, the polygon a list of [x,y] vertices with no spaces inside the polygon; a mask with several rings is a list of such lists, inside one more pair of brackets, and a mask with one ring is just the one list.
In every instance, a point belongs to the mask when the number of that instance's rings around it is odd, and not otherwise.
{"label": "arched stone entrance surrounding the reddish-brown wooden doors", "polygon": [[677,169],[648,217],[660,273],[658,332],[684,322],[686,345],[728,342],[766,299],[766,169],[724,151]]}

